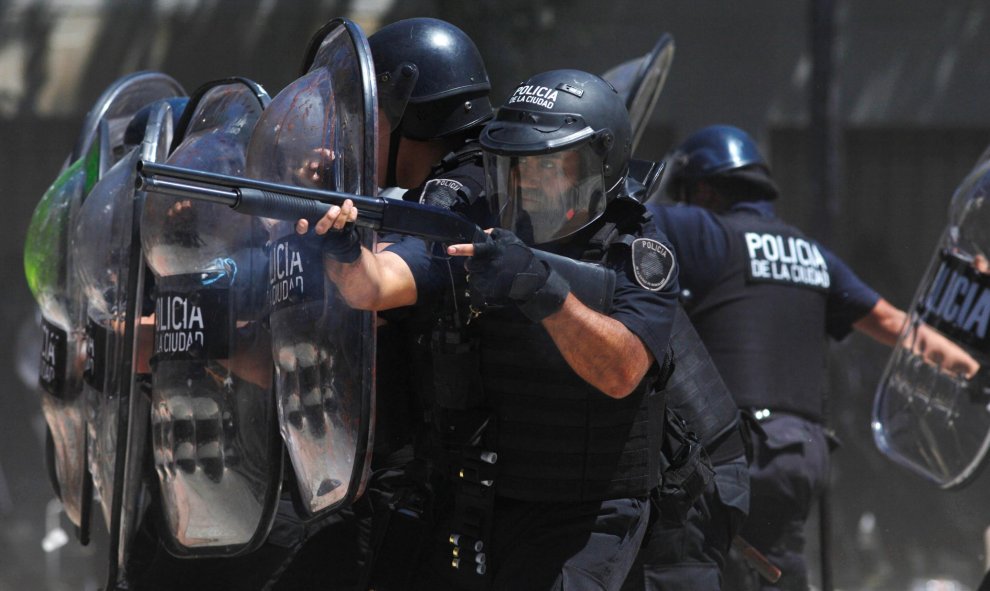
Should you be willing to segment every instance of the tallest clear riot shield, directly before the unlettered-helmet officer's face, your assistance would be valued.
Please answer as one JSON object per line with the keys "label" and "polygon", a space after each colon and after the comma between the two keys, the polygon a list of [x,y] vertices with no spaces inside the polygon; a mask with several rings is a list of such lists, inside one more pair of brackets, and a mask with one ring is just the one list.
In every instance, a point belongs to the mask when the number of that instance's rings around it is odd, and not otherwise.
{"label": "tallest clear riot shield, directly before the unlettered-helmet officer's face", "polygon": [[[309,71],[251,137],[247,176],[374,196],[377,110],[367,40],[353,23],[318,34]],[[317,45],[318,44],[318,45]],[[323,271],[322,238],[270,224],[269,303],[279,425],[302,508],[363,490],[371,452],[374,315],[349,308]],[[364,237],[371,247],[373,237]]]}

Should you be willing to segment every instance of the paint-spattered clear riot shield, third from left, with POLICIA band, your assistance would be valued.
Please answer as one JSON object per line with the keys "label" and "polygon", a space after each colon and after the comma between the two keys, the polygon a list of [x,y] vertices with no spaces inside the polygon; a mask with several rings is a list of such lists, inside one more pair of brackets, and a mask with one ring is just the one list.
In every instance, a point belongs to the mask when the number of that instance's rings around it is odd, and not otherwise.
{"label": "paint-spattered clear riot shield, third from left, with POLICIA band", "polygon": [[[203,86],[168,163],[242,176],[268,100],[243,79]],[[265,322],[267,241],[260,219],[223,205],[145,201],[141,243],[155,278],[151,441],[164,541],[176,555],[250,551],[272,524],[282,447]]]}

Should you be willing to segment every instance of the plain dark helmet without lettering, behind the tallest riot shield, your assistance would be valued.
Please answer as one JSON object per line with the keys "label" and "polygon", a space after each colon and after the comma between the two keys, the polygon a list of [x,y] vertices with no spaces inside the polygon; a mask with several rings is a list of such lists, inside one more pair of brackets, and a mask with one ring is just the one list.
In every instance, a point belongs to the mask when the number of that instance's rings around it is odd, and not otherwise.
{"label": "plain dark helmet without lettering, behind the tallest riot shield", "polygon": [[394,22],[368,38],[378,98],[403,137],[454,135],[492,115],[481,53],[454,25],[435,18]]}

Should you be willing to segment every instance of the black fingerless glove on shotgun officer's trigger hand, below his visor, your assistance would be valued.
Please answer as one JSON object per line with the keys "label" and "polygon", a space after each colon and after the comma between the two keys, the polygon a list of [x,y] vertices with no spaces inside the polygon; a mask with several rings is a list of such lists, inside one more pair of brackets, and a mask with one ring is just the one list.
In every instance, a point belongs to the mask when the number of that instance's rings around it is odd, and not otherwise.
{"label": "black fingerless glove on shotgun officer's trigger hand, below his visor", "polygon": [[471,299],[483,305],[513,302],[533,322],[560,310],[571,291],[567,280],[512,232],[496,228],[491,238],[491,245],[476,245],[465,263]]}

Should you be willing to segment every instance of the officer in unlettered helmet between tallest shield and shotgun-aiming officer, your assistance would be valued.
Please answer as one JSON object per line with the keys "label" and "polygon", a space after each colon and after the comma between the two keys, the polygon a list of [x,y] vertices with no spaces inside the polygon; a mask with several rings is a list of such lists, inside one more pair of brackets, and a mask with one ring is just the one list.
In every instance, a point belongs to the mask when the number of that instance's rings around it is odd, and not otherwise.
{"label": "officer in unlettered helmet between tallest shield and shotgun-aiming officer", "polygon": [[[386,25],[368,42],[381,128],[391,130],[379,136],[378,146],[378,176],[390,189],[388,194],[455,209],[480,203],[484,176],[477,138],[492,116],[492,107],[491,84],[473,41],[445,21],[412,18]],[[297,229],[304,233],[307,228],[304,220]],[[322,231],[318,225],[317,232]],[[346,253],[357,246],[346,239],[326,244],[328,256],[341,260],[347,260]],[[430,292],[424,278],[442,280],[431,270],[430,252],[415,238],[380,236],[374,260],[387,274],[415,272],[424,293]],[[417,464],[410,444],[424,428],[422,417],[428,412],[420,401],[419,384],[430,379],[425,367],[429,352],[424,349],[429,340],[420,337],[428,335],[433,318],[426,307],[410,307],[414,301],[392,301],[381,307],[387,311],[379,315],[372,493],[354,507],[357,519],[349,510],[330,519],[330,527],[307,544],[280,587],[321,583],[335,589],[358,584],[404,588],[411,569],[418,565],[416,548],[423,545],[419,521],[429,491],[424,491],[422,470],[410,465]],[[410,515],[416,518],[406,519]],[[383,547],[385,538],[401,539],[407,547],[390,552]],[[357,556],[356,546],[360,547]],[[363,572],[341,565],[313,568],[325,565],[328,554],[361,564]]]}

